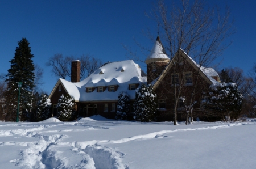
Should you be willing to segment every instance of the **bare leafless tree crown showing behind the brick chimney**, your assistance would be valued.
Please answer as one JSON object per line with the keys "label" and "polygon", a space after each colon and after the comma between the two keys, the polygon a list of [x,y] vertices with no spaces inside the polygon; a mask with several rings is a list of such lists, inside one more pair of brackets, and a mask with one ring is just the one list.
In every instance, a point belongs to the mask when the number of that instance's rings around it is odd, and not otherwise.
{"label": "bare leafless tree crown showing behind the brick chimney", "polygon": [[101,60],[87,55],[82,55],[80,57],[67,56],[64,57],[62,54],[55,54],[53,57],[50,57],[46,66],[52,67],[52,74],[56,77],[66,79],[71,77],[71,61],[80,60],[81,69],[80,69],[80,79],[85,79],[95,70],[102,65]]}

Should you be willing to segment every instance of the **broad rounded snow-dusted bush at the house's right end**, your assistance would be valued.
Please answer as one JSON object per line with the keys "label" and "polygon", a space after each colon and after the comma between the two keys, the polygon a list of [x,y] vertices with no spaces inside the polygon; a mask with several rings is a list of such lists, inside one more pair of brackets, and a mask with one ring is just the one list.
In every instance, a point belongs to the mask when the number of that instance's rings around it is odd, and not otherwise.
{"label": "broad rounded snow-dusted bush at the house's right end", "polygon": [[205,98],[204,108],[218,117],[225,120],[230,116],[233,120],[240,116],[243,96],[236,83],[212,84]]}

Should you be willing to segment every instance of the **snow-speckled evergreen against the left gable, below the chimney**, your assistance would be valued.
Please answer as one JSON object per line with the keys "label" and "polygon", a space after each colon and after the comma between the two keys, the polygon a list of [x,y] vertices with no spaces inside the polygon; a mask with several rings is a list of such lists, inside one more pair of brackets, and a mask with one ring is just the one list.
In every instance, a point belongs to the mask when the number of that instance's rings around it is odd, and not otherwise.
{"label": "snow-speckled evergreen against the left gable, below the chimney", "polygon": [[75,105],[75,99],[71,96],[61,95],[57,108],[57,116],[60,121],[71,121],[73,117],[73,109]]}

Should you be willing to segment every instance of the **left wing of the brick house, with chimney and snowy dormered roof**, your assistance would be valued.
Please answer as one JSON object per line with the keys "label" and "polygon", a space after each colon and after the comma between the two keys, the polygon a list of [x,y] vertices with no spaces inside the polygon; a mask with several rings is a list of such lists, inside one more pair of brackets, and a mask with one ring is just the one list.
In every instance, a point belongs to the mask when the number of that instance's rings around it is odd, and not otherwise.
{"label": "left wing of the brick house, with chimney and snowy dormered roof", "polygon": [[57,115],[60,96],[69,94],[75,99],[76,110],[83,116],[100,114],[114,119],[119,92],[127,91],[130,100],[134,100],[135,90],[141,83],[146,83],[146,74],[133,60],[105,63],[81,82],[79,73],[80,61],[72,61],[71,82],[65,79],[57,81],[49,95],[53,116]]}

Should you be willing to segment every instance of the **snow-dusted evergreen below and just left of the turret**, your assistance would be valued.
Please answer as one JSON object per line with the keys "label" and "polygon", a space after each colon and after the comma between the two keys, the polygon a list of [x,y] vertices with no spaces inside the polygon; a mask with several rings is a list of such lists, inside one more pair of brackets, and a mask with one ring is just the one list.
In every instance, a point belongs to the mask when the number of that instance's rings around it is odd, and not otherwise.
{"label": "snow-dusted evergreen below and just left of the turret", "polygon": [[142,84],[139,91],[136,92],[134,102],[135,120],[136,121],[152,121],[155,120],[155,113],[158,109],[156,103],[156,94],[151,84],[145,86]]}

